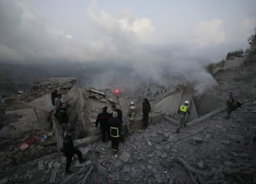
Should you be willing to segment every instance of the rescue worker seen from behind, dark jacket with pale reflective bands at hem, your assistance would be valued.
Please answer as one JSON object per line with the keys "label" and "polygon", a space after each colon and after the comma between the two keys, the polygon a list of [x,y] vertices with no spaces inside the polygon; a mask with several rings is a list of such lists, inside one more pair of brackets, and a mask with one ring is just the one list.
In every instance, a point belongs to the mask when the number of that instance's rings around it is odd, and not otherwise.
{"label": "rescue worker seen from behind, dark jacket with pale reflective bands at hem", "polygon": [[118,145],[122,134],[122,121],[118,118],[118,112],[113,112],[113,117],[108,119],[110,126],[111,148],[114,154],[118,153]]}

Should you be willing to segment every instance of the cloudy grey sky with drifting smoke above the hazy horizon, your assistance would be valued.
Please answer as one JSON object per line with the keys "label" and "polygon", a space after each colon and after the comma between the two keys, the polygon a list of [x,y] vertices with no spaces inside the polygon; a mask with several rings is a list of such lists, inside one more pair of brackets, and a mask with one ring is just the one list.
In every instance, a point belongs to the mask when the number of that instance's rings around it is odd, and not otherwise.
{"label": "cloudy grey sky with drifting smoke above the hazy horizon", "polygon": [[158,80],[167,67],[210,83],[202,66],[248,48],[255,7],[255,0],[0,0],[0,63],[117,63]]}

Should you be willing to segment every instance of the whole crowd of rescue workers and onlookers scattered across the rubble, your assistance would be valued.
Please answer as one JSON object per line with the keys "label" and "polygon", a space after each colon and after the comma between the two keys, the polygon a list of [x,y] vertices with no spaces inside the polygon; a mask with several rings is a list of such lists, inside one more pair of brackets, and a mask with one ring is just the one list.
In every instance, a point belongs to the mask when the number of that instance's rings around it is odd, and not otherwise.
{"label": "whole crowd of rescue workers and onlookers scattered across the rubble", "polygon": [[[164,86],[161,86],[161,93],[164,90]],[[143,88],[143,91],[145,89]],[[137,93],[137,91],[135,92]],[[148,88],[148,93],[150,93],[150,88]],[[159,91],[157,91],[159,93]],[[150,95],[149,95],[150,96]],[[154,94],[156,96],[156,93]],[[84,159],[82,158],[82,153],[77,148],[73,147],[72,136],[75,133],[75,128],[69,123],[68,113],[66,112],[66,104],[61,101],[62,94],[58,93],[57,90],[54,90],[51,94],[52,97],[52,105],[55,106],[55,118],[57,118],[58,122],[62,126],[62,139],[63,139],[63,148],[62,151],[66,156],[66,173],[71,173],[70,165],[72,162],[72,157],[74,154],[78,155],[79,163],[83,163]],[[180,132],[180,129],[186,126],[187,116],[190,115],[190,102],[185,101],[184,104],[180,105],[178,108],[179,115],[179,125],[177,128],[177,133]],[[225,118],[228,119],[231,116],[233,110],[241,107],[241,103],[233,98],[233,93],[229,93],[229,99],[226,101],[226,115]],[[106,140],[111,140],[111,148],[113,153],[118,153],[119,143],[123,143],[125,141],[123,130],[122,130],[122,111],[116,108],[116,105],[111,105],[112,113],[107,112],[108,107],[103,107],[102,112],[98,114],[97,119],[95,121],[95,127],[98,127],[100,124],[100,129],[102,133],[102,142],[106,142]],[[143,129],[146,129],[148,126],[148,115],[151,110],[150,102],[147,98],[143,99],[142,102],[142,113],[143,113]],[[128,133],[132,134],[134,132],[135,126],[135,117],[138,114],[138,110],[135,107],[135,102],[130,102],[130,107],[127,112],[128,123],[127,129]],[[66,131],[66,136],[64,137]]]}

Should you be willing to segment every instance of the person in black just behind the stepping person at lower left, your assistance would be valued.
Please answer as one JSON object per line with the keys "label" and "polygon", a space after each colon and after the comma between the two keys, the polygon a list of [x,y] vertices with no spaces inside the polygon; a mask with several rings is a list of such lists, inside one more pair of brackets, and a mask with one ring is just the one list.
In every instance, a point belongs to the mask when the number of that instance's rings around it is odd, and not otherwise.
{"label": "person in black just behind the stepping person at lower left", "polygon": [[58,121],[60,125],[62,125],[62,139],[64,139],[65,131],[68,133],[70,129],[70,119],[68,118],[68,113],[66,113],[66,104],[62,103],[60,105],[60,112],[58,113]]}

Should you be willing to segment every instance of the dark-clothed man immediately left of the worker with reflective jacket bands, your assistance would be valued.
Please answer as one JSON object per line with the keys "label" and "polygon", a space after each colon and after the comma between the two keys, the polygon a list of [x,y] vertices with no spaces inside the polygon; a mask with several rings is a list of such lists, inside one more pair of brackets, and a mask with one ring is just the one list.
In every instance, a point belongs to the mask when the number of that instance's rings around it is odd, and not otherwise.
{"label": "dark-clothed man immediately left of the worker with reflective jacket bands", "polygon": [[100,123],[100,129],[102,130],[102,142],[106,142],[106,134],[108,136],[108,140],[110,137],[110,126],[108,126],[108,119],[111,117],[111,114],[106,112],[108,107],[103,107],[102,113],[99,113],[96,119],[95,127],[98,127],[98,123]]}

